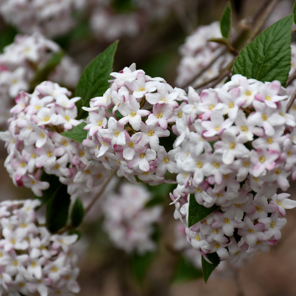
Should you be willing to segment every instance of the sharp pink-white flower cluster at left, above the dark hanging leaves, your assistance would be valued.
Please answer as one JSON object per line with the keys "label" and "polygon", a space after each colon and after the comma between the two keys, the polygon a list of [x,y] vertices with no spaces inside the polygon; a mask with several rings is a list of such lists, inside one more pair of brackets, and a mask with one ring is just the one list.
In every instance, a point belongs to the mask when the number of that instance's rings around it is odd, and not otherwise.
{"label": "sharp pink-white flower cluster at left, above the dark hanging leaves", "polygon": [[80,98],[69,95],[51,81],[38,85],[33,94],[21,91],[11,109],[9,128],[0,133],[8,152],[4,165],[13,183],[31,188],[37,196],[49,186],[40,181],[43,169],[68,185],[69,194],[87,193],[108,175],[82,144],[60,134],[81,122],[75,119],[75,102]]}

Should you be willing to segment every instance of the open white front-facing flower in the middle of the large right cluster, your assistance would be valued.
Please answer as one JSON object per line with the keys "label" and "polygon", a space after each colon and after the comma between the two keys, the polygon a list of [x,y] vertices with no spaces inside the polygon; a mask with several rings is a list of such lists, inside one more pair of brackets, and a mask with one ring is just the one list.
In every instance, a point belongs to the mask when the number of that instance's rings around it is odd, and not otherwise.
{"label": "open white front-facing flower in the middle of the large right cluster", "polygon": [[214,144],[214,149],[216,152],[222,153],[222,160],[226,165],[232,164],[235,157],[246,157],[250,154],[250,150],[240,143],[232,133],[225,131],[221,138],[222,141]]}

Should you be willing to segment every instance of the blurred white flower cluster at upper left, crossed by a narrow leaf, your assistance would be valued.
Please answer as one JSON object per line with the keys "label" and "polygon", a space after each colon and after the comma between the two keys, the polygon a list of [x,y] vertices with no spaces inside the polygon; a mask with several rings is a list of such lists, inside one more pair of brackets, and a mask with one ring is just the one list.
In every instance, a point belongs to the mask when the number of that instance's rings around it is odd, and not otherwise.
{"label": "blurred white flower cluster at upper left, crossed by a narrow leaf", "polygon": [[[57,43],[39,33],[31,36],[17,35],[14,42],[4,48],[3,54],[0,54],[0,125],[5,125],[10,116],[9,109],[14,105],[13,99],[17,93],[28,91],[36,71],[44,67],[53,54],[60,50]],[[65,56],[49,75],[49,79],[74,88],[79,75],[80,68],[70,57]]]}

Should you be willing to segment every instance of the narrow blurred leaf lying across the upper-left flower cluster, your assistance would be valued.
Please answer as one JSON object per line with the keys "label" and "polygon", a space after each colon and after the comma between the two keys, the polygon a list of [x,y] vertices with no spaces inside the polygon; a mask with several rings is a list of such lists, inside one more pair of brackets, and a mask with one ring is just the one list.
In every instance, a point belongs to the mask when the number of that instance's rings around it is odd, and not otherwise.
{"label": "narrow blurred leaf lying across the upper-left flower cluster", "polygon": [[42,68],[37,69],[34,77],[30,81],[30,89],[35,89],[38,84],[47,80],[49,74],[52,73],[61,62],[63,56],[64,52],[62,50],[55,52]]}

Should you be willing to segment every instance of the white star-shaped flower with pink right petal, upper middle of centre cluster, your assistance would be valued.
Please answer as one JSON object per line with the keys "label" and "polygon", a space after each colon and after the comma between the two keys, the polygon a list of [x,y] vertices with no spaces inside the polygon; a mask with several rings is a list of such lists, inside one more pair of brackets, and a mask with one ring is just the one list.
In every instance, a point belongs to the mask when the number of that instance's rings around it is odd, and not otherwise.
{"label": "white star-shaped flower with pink right petal, upper middle of centre cluster", "polygon": [[130,95],[128,102],[123,102],[118,106],[118,111],[124,116],[119,122],[123,124],[130,123],[135,131],[139,131],[142,117],[151,113],[148,110],[141,110],[140,103],[132,95]]}

